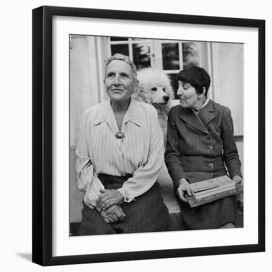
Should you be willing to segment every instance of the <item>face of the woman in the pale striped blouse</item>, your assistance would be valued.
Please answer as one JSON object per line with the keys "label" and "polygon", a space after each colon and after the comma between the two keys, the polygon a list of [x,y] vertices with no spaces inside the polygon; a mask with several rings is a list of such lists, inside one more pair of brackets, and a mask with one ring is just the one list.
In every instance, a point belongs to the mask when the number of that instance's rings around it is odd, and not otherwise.
{"label": "face of the woman in the pale striped blouse", "polygon": [[112,60],[107,67],[105,87],[111,100],[130,100],[136,88],[130,65],[123,60]]}

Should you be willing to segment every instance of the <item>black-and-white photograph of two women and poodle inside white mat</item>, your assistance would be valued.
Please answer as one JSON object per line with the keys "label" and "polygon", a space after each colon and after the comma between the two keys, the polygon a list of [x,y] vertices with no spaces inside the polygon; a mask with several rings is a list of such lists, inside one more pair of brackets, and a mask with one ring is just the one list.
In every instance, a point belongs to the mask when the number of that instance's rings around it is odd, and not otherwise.
{"label": "black-and-white photograph of two women and poodle inside white mat", "polygon": [[242,43],[71,34],[69,77],[70,236],[243,227]]}

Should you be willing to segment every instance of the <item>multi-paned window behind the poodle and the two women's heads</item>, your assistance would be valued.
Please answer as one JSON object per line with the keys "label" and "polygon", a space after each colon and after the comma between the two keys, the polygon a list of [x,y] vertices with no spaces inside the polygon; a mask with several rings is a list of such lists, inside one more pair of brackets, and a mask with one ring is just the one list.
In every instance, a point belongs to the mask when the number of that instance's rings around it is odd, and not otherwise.
{"label": "multi-paned window behind the poodle and the two women's heads", "polygon": [[111,55],[130,56],[137,69],[151,67],[163,70],[170,77],[175,93],[178,90],[176,76],[180,70],[201,65],[205,68],[200,56],[204,54],[207,58],[207,45],[204,51],[201,45],[207,43],[123,37],[108,37],[108,42]]}

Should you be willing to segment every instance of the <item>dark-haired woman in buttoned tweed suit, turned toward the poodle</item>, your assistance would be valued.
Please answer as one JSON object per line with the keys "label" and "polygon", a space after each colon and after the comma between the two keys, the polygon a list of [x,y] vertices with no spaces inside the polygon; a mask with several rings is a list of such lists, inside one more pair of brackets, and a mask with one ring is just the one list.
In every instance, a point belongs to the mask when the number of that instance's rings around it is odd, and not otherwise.
{"label": "dark-haired woman in buttoned tweed suit, turned toward the poodle", "polygon": [[[190,67],[177,75],[180,105],[168,116],[165,162],[189,229],[234,227],[236,197],[190,208],[184,194],[189,183],[228,175],[242,183],[241,162],[233,137],[230,110],[207,96],[210,77],[203,68]],[[226,169],[226,167],[227,169]]]}

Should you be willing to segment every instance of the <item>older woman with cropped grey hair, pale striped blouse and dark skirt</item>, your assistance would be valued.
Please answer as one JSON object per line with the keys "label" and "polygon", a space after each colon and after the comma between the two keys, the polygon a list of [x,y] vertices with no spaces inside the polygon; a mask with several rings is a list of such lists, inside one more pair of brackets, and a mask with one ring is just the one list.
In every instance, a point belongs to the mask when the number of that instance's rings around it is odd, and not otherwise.
{"label": "older woman with cropped grey hair, pale striped blouse and dark skirt", "polygon": [[164,152],[157,112],[132,99],[138,81],[128,56],[106,60],[104,84],[110,99],[85,111],[76,149],[85,192],[78,234],[167,230],[156,182]]}

